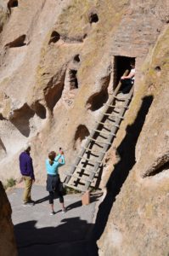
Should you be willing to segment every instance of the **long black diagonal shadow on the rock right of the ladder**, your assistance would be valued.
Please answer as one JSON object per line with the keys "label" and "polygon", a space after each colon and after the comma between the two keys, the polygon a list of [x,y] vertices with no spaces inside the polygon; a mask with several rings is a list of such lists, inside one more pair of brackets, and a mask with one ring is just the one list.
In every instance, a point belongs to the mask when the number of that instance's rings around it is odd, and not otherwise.
{"label": "long black diagonal shadow on the rock right of the ladder", "polygon": [[127,126],[127,134],[117,148],[120,155],[120,161],[114,166],[114,170],[110,175],[110,179],[106,185],[107,194],[104,201],[99,206],[99,212],[96,218],[96,224],[93,229],[93,239],[99,240],[107,223],[110,210],[115,202],[115,196],[121,191],[123,183],[125,183],[129,172],[134,166],[135,147],[138,141],[140,132],[142,131],[144,120],[149,112],[149,107],[153,102],[153,96],[145,96],[142,100],[142,105],[138,111],[137,118],[132,125]]}

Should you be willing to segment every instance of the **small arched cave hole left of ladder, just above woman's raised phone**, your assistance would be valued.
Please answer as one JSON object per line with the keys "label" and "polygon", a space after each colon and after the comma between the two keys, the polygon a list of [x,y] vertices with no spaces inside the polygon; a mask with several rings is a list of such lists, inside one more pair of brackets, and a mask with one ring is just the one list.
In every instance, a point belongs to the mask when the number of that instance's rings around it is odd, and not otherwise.
{"label": "small arched cave hole left of ladder, just above woman's raised phone", "polygon": [[85,139],[85,137],[89,136],[90,132],[87,129],[86,125],[79,125],[76,129],[76,133],[75,133],[75,143],[73,148],[76,150],[78,144],[80,144],[82,142],[82,140]]}

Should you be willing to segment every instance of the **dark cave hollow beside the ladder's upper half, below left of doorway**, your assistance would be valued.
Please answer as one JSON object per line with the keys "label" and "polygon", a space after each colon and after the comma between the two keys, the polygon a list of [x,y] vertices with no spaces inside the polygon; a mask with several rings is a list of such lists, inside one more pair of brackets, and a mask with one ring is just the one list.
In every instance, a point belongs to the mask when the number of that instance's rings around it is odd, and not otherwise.
{"label": "dark cave hollow beside the ladder's upper half, below left of doorway", "polygon": [[103,84],[101,90],[99,92],[94,93],[92,96],[88,98],[87,109],[96,111],[99,108],[102,108],[104,106],[104,103],[107,102],[109,98],[108,86],[110,84],[110,75],[104,77],[101,80],[101,83]]}

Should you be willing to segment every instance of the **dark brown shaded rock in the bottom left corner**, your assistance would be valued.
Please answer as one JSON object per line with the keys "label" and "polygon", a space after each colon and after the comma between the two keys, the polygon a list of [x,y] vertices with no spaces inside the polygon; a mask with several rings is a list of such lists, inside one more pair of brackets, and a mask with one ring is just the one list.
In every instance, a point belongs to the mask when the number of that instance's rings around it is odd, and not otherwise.
{"label": "dark brown shaded rock in the bottom left corner", "polygon": [[3,189],[3,184],[0,182],[0,255],[3,256],[18,255],[11,213],[7,195]]}

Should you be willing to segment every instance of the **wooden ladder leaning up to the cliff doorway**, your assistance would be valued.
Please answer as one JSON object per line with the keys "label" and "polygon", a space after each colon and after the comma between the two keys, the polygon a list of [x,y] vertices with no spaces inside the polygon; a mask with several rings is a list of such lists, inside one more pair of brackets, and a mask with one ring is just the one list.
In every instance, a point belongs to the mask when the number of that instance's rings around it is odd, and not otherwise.
{"label": "wooden ladder leaning up to the cliff doorway", "polygon": [[90,136],[86,137],[87,141],[76,157],[74,165],[71,165],[70,172],[65,173],[65,186],[87,192],[99,177],[104,154],[112,145],[121,120],[124,119],[124,114],[132,100],[133,86],[122,97],[117,96],[120,89],[121,82],[109,101],[104,104],[104,112],[101,113],[99,121],[96,121]]}

